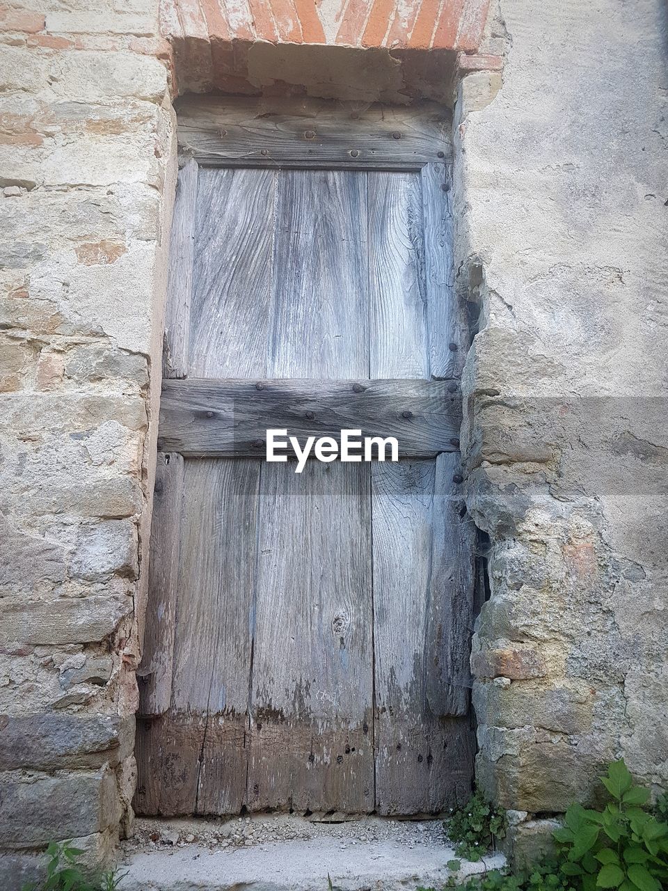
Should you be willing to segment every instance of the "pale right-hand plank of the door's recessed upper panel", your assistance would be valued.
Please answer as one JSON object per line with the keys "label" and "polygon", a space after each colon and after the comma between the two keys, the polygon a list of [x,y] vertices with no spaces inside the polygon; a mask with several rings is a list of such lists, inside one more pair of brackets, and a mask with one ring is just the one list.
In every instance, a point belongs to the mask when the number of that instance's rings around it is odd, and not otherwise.
{"label": "pale right-hand plank of the door's recessed upper panel", "polygon": [[367,177],[370,377],[428,378],[420,175],[370,171]]}

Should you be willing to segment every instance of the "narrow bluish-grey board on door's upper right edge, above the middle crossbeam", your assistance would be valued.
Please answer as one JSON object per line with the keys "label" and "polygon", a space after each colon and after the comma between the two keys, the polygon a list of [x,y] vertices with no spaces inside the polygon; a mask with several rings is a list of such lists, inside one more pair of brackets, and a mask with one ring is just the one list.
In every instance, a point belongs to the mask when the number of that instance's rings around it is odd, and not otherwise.
{"label": "narrow bluish-grey board on door's upper right edge, above the middle crossbeam", "polygon": [[468,339],[466,320],[454,290],[451,168],[426,164],[421,182],[431,375],[455,378],[464,367]]}

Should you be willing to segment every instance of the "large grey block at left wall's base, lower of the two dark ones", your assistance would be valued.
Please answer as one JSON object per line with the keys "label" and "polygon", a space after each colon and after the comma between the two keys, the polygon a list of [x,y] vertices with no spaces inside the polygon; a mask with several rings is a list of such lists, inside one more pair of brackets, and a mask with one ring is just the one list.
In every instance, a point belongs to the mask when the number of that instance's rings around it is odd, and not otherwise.
{"label": "large grey block at left wall's base, lower of the two dark ones", "polygon": [[20,849],[92,835],[118,820],[116,781],[109,772],[0,778],[0,844]]}

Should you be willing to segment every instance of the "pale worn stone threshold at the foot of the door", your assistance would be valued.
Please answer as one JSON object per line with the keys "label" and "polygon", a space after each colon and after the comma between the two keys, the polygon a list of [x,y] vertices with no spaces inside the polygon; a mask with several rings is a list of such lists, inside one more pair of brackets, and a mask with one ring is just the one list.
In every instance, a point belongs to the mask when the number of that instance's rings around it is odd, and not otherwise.
{"label": "pale worn stone threshold at the foot of the door", "polygon": [[[122,846],[122,891],[415,891],[442,888],[455,857],[441,821],[295,815],[137,820]],[[458,878],[505,862],[461,861]]]}

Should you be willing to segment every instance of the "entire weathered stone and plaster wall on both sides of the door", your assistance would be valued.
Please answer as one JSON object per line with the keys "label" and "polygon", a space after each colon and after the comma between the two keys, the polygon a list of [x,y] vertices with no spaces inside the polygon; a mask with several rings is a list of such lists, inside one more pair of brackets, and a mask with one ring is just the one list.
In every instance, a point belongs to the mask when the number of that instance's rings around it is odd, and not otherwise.
{"label": "entire weathered stone and plaster wall on both sides of the door", "polygon": [[[189,0],[163,5],[167,44],[156,3],[0,11],[8,888],[51,838],[76,837],[100,858],[131,819],[175,174],[169,96],[174,78],[234,88],[224,78],[250,39],[226,44],[226,5]],[[595,797],[611,757],[668,781],[664,7],[501,0],[481,45],[458,43],[458,25],[418,47],[420,4],[410,28],[399,18],[397,45],[390,16],[371,46],[371,13],[392,4],[361,5],[354,40],[337,43],[342,24],[321,20],[321,55],[305,45],[300,56],[293,41],[269,72],[280,83],[259,69],[251,83],[241,67],[237,87],[446,97],[459,53],[456,273],[478,331],[462,444],[469,514],[490,538],[472,657],[477,772],[520,812],[514,834],[534,838],[545,827],[531,817]],[[364,80],[376,64],[380,79]]]}

